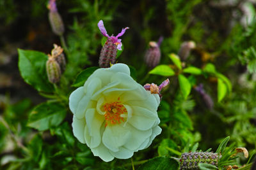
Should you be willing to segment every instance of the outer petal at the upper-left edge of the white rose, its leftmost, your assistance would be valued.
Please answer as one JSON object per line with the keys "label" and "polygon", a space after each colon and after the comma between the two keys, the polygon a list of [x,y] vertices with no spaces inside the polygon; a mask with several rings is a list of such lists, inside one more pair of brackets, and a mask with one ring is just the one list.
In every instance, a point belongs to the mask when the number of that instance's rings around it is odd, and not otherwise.
{"label": "outer petal at the upper-left edge of the white rose, its leftmost", "polygon": [[69,108],[73,114],[76,113],[77,105],[79,101],[83,98],[83,87],[79,87],[78,89],[74,90],[72,94],[69,96]]}

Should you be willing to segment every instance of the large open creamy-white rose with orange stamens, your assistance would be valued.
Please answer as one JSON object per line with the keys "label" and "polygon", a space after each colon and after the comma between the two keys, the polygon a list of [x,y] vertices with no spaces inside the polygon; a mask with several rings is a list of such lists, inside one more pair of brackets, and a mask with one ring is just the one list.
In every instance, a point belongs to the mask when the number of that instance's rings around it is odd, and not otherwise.
{"label": "large open creamy-white rose with orange stamens", "polygon": [[127,65],[97,69],[69,97],[74,136],[106,162],[129,159],[161,133],[159,103],[158,94],[131,78]]}

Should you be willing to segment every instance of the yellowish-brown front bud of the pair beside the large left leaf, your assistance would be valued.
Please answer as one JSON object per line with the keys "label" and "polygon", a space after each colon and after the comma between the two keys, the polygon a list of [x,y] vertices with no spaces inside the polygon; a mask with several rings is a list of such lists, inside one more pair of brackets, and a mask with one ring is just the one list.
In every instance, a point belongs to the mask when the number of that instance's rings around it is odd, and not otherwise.
{"label": "yellowish-brown front bud of the pair beside the large left leaf", "polygon": [[51,57],[51,55],[49,55],[49,59],[46,62],[46,71],[47,71],[48,80],[51,83],[58,83],[58,81],[60,81],[60,77],[61,77],[60,65],[53,57]]}

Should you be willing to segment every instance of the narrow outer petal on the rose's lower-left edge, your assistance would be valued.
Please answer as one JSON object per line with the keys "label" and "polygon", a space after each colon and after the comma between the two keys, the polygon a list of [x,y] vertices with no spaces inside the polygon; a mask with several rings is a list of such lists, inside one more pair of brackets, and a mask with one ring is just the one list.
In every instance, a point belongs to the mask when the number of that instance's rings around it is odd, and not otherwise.
{"label": "narrow outer petal on the rose's lower-left edge", "polygon": [[84,118],[78,119],[76,116],[73,116],[73,122],[72,122],[72,129],[73,134],[76,136],[79,142],[85,143],[84,140],[84,127],[85,127],[85,120]]}

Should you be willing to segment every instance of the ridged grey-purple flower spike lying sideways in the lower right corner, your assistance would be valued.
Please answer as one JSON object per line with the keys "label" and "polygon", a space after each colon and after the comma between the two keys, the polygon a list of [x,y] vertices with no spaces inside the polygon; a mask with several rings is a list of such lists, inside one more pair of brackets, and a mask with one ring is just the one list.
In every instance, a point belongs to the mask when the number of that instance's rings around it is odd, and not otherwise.
{"label": "ridged grey-purple flower spike lying sideways in the lower right corner", "polygon": [[182,153],[180,157],[180,169],[198,169],[199,163],[207,163],[212,164],[213,166],[218,166],[218,157],[218,153],[212,152]]}

